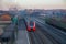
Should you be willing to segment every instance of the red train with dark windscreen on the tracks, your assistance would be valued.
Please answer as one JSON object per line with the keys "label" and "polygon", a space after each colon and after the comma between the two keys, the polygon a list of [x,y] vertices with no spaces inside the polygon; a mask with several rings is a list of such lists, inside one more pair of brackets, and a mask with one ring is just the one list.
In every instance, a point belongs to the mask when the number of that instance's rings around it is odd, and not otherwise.
{"label": "red train with dark windscreen on the tracks", "polygon": [[36,26],[35,26],[35,21],[33,21],[33,20],[25,20],[25,25],[26,25],[26,30],[29,31],[29,32],[34,32],[35,30],[36,30]]}

